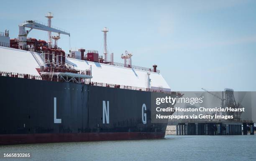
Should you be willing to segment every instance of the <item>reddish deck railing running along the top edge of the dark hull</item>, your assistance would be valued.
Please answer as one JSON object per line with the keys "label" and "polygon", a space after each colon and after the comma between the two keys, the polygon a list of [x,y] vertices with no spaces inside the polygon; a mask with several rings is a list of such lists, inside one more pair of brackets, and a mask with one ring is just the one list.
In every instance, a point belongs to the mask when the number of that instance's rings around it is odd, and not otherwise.
{"label": "reddish deck railing running along the top edge of the dark hull", "polygon": [[[21,73],[12,73],[12,72],[3,72],[3,71],[0,71],[0,76],[14,77],[14,78],[25,78],[25,79],[34,79],[34,80],[42,80],[40,75],[21,74]],[[57,80],[53,79],[52,81],[57,81]],[[180,92],[166,91],[166,90],[162,90],[161,88],[159,88],[159,89],[151,89],[151,88],[142,88],[142,87],[134,87],[134,86],[123,86],[123,85],[117,85],[117,84],[99,83],[99,82],[90,82],[90,81],[85,81],[85,82],[82,82],[82,83],[88,84],[90,86],[100,86],[100,87],[108,87],[108,88],[129,89],[129,90],[136,90],[136,91],[166,93],[166,94],[174,94],[174,95],[177,95],[177,96],[181,96]]]}

